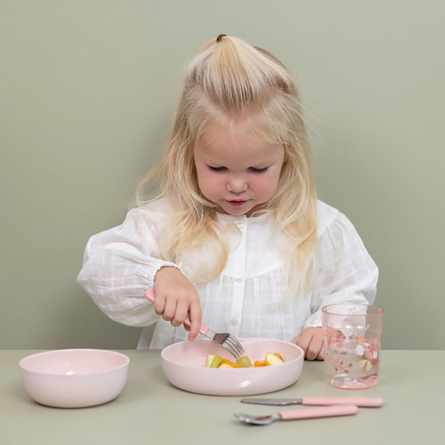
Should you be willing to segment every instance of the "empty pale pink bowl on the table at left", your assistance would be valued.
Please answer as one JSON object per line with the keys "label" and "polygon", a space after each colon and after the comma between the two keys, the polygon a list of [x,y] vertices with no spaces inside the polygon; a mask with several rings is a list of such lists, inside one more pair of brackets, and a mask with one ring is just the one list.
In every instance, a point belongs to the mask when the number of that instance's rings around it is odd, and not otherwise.
{"label": "empty pale pink bowl on the table at left", "polygon": [[80,408],[115,399],[127,381],[130,358],[101,349],[62,349],[22,358],[31,399],[47,406]]}

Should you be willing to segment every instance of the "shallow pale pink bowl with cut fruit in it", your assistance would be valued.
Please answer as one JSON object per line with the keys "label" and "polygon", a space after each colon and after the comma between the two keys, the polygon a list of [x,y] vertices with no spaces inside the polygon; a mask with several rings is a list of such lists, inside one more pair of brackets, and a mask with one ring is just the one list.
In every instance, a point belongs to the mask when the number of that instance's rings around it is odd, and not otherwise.
{"label": "shallow pale pink bowl with cut fruit in it", "polygon": [[249,396],[286,388],[300,377],[304,351],[281,340],[240,339],[246,355],[253,361],[264,360],[268,352],[279,352],[284,364],[236,369],[206,368],[209,354],[233,360],[224,348],[211,340],[180,342],[162,350],[162,367],[169,382],[177,388],[212,396]]}

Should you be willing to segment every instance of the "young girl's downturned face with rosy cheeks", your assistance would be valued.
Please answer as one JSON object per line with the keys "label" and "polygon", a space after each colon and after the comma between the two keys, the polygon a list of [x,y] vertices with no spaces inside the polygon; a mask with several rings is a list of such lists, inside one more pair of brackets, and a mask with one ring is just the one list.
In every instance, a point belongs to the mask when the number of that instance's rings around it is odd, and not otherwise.
{"label": "young girl's downturned face with rosy cheeks", "polygon": [[194,147],[201,193],[229,215],[250,215],[273,196],[284,147],[248,132],[210,124]]}

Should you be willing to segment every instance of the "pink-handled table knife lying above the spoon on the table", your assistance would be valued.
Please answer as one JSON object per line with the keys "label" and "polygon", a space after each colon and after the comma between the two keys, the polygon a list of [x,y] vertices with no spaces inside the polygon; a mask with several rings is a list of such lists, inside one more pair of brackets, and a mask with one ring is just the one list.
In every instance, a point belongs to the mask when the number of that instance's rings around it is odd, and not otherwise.
{"label": "pink-handled table knife lying above the spoon on the table", "polygon": [[377,408],[383,405],[381,397],[353,396],[353,397],[303,397],[302,399],[241,399],[244,403],[258,403],[262,405],[344,405],[367,406]]}

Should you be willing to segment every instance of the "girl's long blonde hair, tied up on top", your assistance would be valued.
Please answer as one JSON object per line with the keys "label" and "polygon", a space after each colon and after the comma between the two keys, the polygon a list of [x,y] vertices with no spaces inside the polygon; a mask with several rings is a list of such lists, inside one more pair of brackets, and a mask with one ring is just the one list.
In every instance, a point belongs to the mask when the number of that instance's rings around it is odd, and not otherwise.
{"label": "girl's long blonde hair, tied up on top", "polygon": [[[147,203],[143,190],[159,174],[160,190],[155,199],[168,198],[174,210],[161,230],[163,257],[176,263],[183,259],[189,277],[197,282],[220,275],[228,248],[218,224],[217,206],[200,192],[193,148],[209,123],[236,127],[241,119],[268,141],[284,146],[278,187],[265,210],[287,238],[288,250],[283,256],[289,265],[291,289],[308,290],[317,242],[312,155],[295,81],[285,66],[262,48],[219,36],[191,60],[169,141],[157,164],[138,184],[137,205]],[[200,254],[189,255],[193,249]]]}

